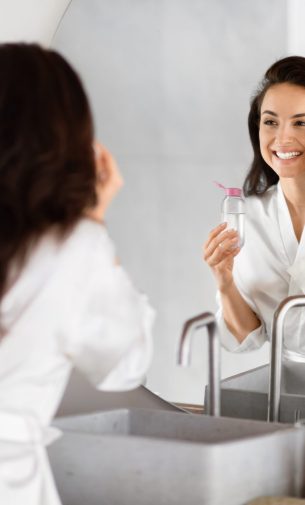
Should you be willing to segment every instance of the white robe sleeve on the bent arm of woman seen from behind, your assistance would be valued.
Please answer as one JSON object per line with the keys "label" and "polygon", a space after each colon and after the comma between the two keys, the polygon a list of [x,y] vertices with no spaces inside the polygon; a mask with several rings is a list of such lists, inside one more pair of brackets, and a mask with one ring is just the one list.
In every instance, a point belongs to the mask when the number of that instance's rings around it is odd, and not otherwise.
{"label": "white robe sleeve on the bent arm of woman seen from behind", "polygon": [[103,227],[83,262],[84,275],[74,285],[73,303],[67,304],[62,350],[99,389],[137,387],[152,357],[154,311],[116,264]]}

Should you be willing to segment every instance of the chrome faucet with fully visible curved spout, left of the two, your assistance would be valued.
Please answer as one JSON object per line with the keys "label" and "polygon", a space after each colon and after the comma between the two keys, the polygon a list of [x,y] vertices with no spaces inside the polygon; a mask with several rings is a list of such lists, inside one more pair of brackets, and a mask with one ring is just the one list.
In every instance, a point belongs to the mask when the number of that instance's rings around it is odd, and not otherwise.
{"label": "chrome faucet with fully visible curved spout, left of the two", "polygon": [[182,329],[179,343],[178,364],[188,366],[191,356],[191,342],[195,330],[207,326],[209,337],[209,399],[207,414],[220,416],[220,349],[215,317],[204,312],[188,319]]}

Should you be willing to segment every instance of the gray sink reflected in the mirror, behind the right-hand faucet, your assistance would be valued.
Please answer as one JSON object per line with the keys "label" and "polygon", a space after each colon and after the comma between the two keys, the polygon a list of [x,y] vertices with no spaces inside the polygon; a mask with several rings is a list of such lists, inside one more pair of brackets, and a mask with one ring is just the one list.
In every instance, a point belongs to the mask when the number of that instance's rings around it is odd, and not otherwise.
{"label": "gray sink reflected in the mirror, behind the right-hand faucet", "polygon": [[[305,418],[305,364],[283,361],[279,420],[294,423]],[[267,419],[269,366],[221,381],[221,413],[227,417]],[[207,395],[206,395],[207,396]]]}

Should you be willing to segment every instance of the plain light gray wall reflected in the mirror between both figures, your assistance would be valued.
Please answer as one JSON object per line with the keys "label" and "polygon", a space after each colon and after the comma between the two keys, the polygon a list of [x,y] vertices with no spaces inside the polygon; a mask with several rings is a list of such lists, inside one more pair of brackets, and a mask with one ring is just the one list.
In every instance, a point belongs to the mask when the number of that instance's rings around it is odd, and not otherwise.
{"label": "plain light gray wall reflected in the mirror between both figures", "polygon": [[[202,243],[219,222],[213,185],[241,185],[249,98],[286,54],[285,0],[73,0],[53,40],[87,87],[96,133],[126,186],[108,224],[122,263],[157,309],[148,386],[199,403],[206,342],[176,366],[183,322],[215,309]],[[204,337],[204,333],[201,337]],[[223,351],[224,376],[268,359]]]}

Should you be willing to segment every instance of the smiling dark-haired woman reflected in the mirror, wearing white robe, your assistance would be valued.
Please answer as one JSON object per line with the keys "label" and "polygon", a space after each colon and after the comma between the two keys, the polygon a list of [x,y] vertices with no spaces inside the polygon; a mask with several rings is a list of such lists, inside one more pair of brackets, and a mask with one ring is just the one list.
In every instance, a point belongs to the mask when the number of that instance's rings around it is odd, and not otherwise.
{"label": "smiling dark-haired woman reflected in the mirror, wearing white robe", "polygon": [[[270,339],[281,300],[305,292],[305,58],[274,63],[251,102],[254,158],[244,183],[246,243],[221,224],[204,245],[218,285],[224,345],[245,351]],[[290,313],[286,353],[305,355],[304,311]],[[296,356],[294,356],[296,357]]]}

